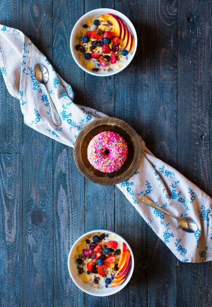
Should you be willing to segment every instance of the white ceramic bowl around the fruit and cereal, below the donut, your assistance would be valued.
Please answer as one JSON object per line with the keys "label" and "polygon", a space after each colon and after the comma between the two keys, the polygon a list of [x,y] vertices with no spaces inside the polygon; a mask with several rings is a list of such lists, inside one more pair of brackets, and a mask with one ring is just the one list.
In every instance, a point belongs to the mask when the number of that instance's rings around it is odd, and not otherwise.
{"label": "white ceramic bowl around the fruit and cereal, below the donut", "polygon": [[[91,287],[89,284],[84,283],[83,281],[81,281],[77,275],[77,269],[76,269],[76,264],[74,263],[73,260],[73,255],[75,252],[75,248],[77,247],[77,245],[87,237],[88,234],[91,233],[96,233],[96,232],[101,232],[101,233],[108,233],[108,234],[115,234],[118,236],[118,239],[123,241],[124,243],[126,243],[128,250],[131,253],[131,267],[130,267],[130,271],[129,274],[127,276],[127,278],[125,279],[125,281],[116,286],[116,287],[108,287],[108,288],[103,288],[103,289],[94,289],[93,287]],[[133,270],[134,270],[134,256],[133,256],[133,252],[131,247],[129,246],[129,244],[127,243],[127,241],[120,236],[119,234],[117,234],[116,232],[113,231],[109,231],[109,230],[92,230],[89,232],[86,232],[85,234],[83,234],[81,237],[79,237],[78,240],[76,240],[76,242],[72,245],[71,247],[71,251],[69,253],[69,258],[68,258],[68,268],[69,268],[69,273],[70,276],[72,278],[72,281],[77,285],[78,288],[80,288],[82,291],[90,294],[90,295],[94,295],[94,296],[108,296],[108,295],[112,295],[117,293],[118,291],[120,291],[121,289],[123,289],[125,287],[125,285],[130,281],[132,274],[133,274]]]}

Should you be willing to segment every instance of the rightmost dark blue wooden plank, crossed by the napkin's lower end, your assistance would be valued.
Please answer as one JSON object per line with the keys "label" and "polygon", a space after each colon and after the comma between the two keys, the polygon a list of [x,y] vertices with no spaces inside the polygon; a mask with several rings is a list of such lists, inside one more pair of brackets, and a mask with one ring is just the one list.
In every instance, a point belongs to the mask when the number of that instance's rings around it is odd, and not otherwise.
{"label": "rightmost dark blue wooden plank, crossed by the napkin's lower end", "polygon": [[[178,11],[178,169],[212,195],[212,3],[179,2]],[[178,306],[212,306],[211,262],[179,262],[177,274]]]}

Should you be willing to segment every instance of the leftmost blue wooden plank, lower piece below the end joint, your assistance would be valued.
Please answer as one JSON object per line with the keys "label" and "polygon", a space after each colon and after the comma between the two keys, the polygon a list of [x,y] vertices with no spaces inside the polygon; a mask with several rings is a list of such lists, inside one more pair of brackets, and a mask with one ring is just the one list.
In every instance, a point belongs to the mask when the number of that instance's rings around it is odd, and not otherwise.
{"label": "leftmost blue wooden plank, lower piece below the end joint", "polygon": [[0,153],[0,306],[23,300],[22,155]]}

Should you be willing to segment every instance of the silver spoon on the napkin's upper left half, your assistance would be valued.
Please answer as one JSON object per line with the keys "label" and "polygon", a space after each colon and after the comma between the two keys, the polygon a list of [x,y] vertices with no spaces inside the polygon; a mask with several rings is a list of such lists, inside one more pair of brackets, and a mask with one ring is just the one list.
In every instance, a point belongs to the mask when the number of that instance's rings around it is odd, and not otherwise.
{"label": "silver spoon on the napkin's upper left half", "polygon": [[46,92],[47,92],[49,105],[50,105],[52,121],[55,126],[60,126],[61,124],[60,115],[58,114],[57,109],[54,103],[52,102],[50,95],[48,94],[48,89],[47,89],[48,71],[46,67],[42,64],[35,64],[34,76],[35,76],[36,81],[38,81],[41,84],[44,84],[46,88]]}

